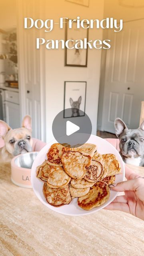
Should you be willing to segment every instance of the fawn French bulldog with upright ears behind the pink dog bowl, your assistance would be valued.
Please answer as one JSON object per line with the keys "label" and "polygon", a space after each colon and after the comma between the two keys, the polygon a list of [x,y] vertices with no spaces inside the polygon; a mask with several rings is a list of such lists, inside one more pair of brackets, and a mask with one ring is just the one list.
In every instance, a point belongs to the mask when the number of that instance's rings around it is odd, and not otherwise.
{"label": "fawn French bulldog with upright ears behind the pink dog bowl", "polygon": [[0,162],[10,162],[18,154],[32,151],[31,117],[25,116],[22,127],[12,129],[0,120],[0,137],[4,139],[4,147],[0,149]]}

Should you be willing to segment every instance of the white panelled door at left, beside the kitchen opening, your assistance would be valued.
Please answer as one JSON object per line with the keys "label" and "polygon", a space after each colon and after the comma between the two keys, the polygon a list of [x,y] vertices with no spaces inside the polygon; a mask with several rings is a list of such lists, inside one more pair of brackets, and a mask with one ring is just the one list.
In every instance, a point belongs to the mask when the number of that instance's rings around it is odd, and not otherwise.
{"label": "white panelled door at left, beside the kitchen opening", "polygon": [[[32,117],[32,136],[45,140],[44,122],[44,84],[40,72],[40,51],[36,50],[36,38],[40,30],[24,29],[24,17],[39,16],[34,1],[20,0],[18,6],[18,61],[21,119],[29,114]],[[29,6],[29,7],[28,7]],[[32,17],[33,17],[32,16]],[[43,92],[43,95],[42,95]]]}

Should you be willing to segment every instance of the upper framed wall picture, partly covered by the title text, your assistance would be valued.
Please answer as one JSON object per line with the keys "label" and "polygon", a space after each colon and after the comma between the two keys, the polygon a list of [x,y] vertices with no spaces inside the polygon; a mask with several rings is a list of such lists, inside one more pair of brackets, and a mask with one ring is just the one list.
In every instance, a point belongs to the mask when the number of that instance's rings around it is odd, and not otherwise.
{"label": "upper framed wall picture, partly covered by the title text", "polygon": [[[84,40],[87,38],[88,40],[88,28],[77,28],[76,21],[73,22],[72,28],[68,28],[68,23],[66,22],[65,27],[65,40]],[[69,47],[74,46],[74,42],[69,42]],[[72,66],[72,67],[87,67],[87,60],[88,60],[88,48],[87,49],[68,49],[65,48],[65,66]]]}

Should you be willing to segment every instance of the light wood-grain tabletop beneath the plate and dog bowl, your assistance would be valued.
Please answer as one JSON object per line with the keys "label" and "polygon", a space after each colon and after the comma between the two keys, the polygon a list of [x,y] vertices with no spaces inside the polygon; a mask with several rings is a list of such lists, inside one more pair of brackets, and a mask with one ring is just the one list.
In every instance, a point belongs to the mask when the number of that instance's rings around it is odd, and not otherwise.
{"label": "light wood-grain tabletop beneath the plate and dog bowl", "polygon": [[[132,166],[144,174],[144,168]],[[142,256],[144,222],[130,214],[101,210],[81,217],[45,207],[30,188],[10,180],[0,166],[1,256]]]}

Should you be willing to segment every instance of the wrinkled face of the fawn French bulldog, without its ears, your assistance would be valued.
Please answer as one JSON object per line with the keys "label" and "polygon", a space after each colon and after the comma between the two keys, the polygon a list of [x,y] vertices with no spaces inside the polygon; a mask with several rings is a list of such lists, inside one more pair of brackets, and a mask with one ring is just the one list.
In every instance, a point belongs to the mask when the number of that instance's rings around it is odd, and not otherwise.
{"label": "wrinkled face of the fawn French bulldog, without its ears", "polygon": [[13,156],[32,151],[31,132],[24,127],[9,130],[4,142],[6,150]]}

